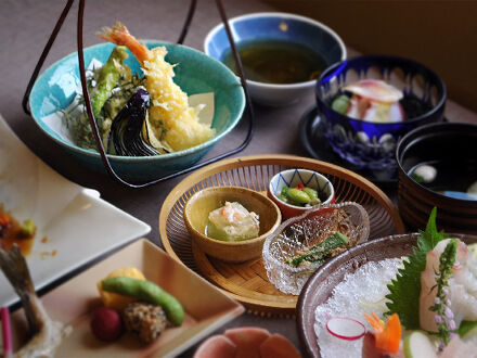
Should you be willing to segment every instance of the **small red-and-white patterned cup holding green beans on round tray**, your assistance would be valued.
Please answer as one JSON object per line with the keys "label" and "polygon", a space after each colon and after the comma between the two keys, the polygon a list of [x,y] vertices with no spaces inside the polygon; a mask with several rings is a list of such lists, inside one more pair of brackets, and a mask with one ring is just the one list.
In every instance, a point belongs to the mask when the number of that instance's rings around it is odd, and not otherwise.
{"label": "small red-and-white patterned cup holding green beans on round tray", "polygon": [[283,187],[295,188],[299,183],[305,187],[314,189],[322,200],[322,204],[332,204],[335,202],[335,189],[332,182],[323,175],[308,169],[288,169],[278,172],[270,180],[268,188],[268,196],[279,206],[282,216],[288,219],[294,216],[302,215],[304,213],[315,208],[315,206],[296,206],[279,199],[278,193],[282,191]]}

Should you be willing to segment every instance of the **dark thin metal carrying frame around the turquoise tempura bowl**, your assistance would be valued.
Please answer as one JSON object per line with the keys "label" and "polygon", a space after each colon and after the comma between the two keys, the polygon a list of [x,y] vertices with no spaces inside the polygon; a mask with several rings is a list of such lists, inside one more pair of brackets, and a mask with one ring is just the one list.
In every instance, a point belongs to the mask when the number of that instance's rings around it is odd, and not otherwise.
{"label": "dark thin metal carrying frame around the turquoise tempura bowl", "polygon": [[[35,71],[34,71],[34,73],[31,75],[31,78],[30,78],[30,80],[28,82],[27,89],[25,91],[25,95],[24,95],[23,101],[22,101],[23,110],[28,115],[30,115],[30,111],[29,111],[29,107],[28,107],[28,100],[29,100],[29,95],[30,95],[30,92],[31,92],[31,88],[33,88],[35,81],[38,78],[38,75],[40,73],[40,69],[41,69],[43,63],[44,63],[44,60],[47,59],[47,55],[50,52],[50,49],[51,49],[54,40],[56,39],[56,35],[60,31],[60,29],[61,29],[61,27],[62,27],[62,25],[63,25],[63,23],[64,23],[64,21],[66,18],[66,15],[68,14],[68,12],[69,12],[74,1],[75,0],[68,0],[66,5],[65,5],[65,8],[63,9],[63,12],[61,13],[60,18],[57,20],[56,25],[55,25],[52,34],[50,35],[50,38],[49,38],[49,40],[47,42],[47,46],[44,47],[43,52],[41,53],[41,56],[38,60],[38,63],[37,63],[37,65],[35,67]],[[218,156],[215,156],[212,158],[209,158],[207,161],[198,163],[198,164],[196,164],[196,165],[194,165],[192,167],[189,167],[189,168],[186,168],[184,170],[177,171],[175,174],[171,174],[171,175],[168,175],[168,176],[165,176],[165,177],[152,180],[152,181],[147,181],[147,182],[143,182],[143,183],[131,183],[131,182],[128,182],[128,181],[121,179],[116,174],[116,171],[113,169],[113,167],[111,166],[109,159],[107,158],[106,152],[104,150],[103,142],[101,140],[101,136],[100,136],[100,132],[99,132],[99,129],[98,129],[98,125],[96,125],[96,122],[94,119],[94,115],[93,115],[93,112],[92,112],[92,108],[91,108],[90,95],[89,95],[89,91],[88,91],[87,79],[86,79],[86,71],[85,71],[85,55],[83,55],[83,51],[82,51],[82,49],[83,49],[83,46],[82,46],[82,21],[83,21],[83,15],[85,15],[85,0],[79,0],[77,42],[78,42],[79,74],[80,74],[80,79],[81,79],[82,94],[83,94],[83,98],[85,98],[85,106],[86,106],[86,110],[87,110],[87,113],[88,113],[88,117],[89,117],[89,120],[90,120],[90,125],[91,125],[91,128],[92,128],[92,131],[93,131],[93,135],[94,135],[94,139],[96,141],[96,145],[98,145],[101,158],[103,161],[103,165],[106,168],[106,170],[109,174],[109,176],[113,177],[113,179],[115,179],[116,181],[123,183],[124,186],[129,187],[129,188],[144,188],[144,187],[150,187],[150,186],[153,186],[153,184],[166,181],[166,180],[171,179],[171,178],[176,178],[176,177],[181,176],[183,174],[186,174],[186,172],[193,171],[195,169],[202,168],[202,167],[204,167],[206,165],[209,165],[211,163],[216,163],[216,162],[218,162],[220,159],[223,159],[223,158],[225,158],[225,157],[228,157],[230,155],[240,153],[250,142],[250,140],[252,140],[253,136],[254,136],[254,117],[255,116],[254,116],[254,108],[252,106],[250,97],[249,97],[249,93],[248,93],[247,84],[246,84],[245,77],[244,77],[244,72],[243,72],[243,67],[242,67],[242,61],[241,61],[241,57],[240,57],[238,52],[236,50],[235,41],[233,40],[232,33],[230,30],[229,21],[228,21],[227,14],[225,14],[225,10],[223,8],[222,0],[216,0],[216,4],[217,4],[217,9],[218,9],[218,11],[220,13],[220,17],[221,17],[221,20],[223,22],[223,25],[225,27],[225,33],[227,33],[227,36],[229,38],[229,42],[230,42],[231,49],[232,49],[233,54],[234,54],[234,60],[235,60],[235,63],[236,63],[236,67],[238,69],[238,76],[241,78],[241,84],[242,84],[242,87],[244,88],[244,91],[245,91],[245,98],[246,98],[247,107],[246,107],[246,111],[245,111],[244,115],[248,119],[247,135],[246,135],[244,141],[242,142],[242,144],[240,144],[237,148],[235,148],[235,149],[233,149],[231,151],[228,151],[228,152],[225,152],[223,154],[220,154]],[[186,18],[185,18],[185,22],[184,22],[184,25],[182,27],[181,34],[179,36],[179,39],[177,41],[177,43],[179,43],[179,44],[183,43],[183,41],[185,39],[185,36],[188,35],[189,27],[191,25],[192,18],[194,17],[196,5],[197,5],[197,0],[191,0],[190,7],[189,7],[189,11],[188,11],[188,15],[186,15]]]}

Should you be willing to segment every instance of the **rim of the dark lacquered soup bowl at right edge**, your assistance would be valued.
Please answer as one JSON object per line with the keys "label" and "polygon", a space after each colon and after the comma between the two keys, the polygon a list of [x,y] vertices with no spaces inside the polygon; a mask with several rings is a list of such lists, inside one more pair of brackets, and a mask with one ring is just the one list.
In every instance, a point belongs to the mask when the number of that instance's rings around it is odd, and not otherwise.
{"label": "rim of the dark lacquered soup bowl at right edge", "polygon": [[[404,137],[401,138],[401,140],[399,141],[397,148],[396,148],[396,162],[398,163],[398,168],[401,172],[403,172],[414,184],[416,184],[420,190],[424,190],[425,192],[427,192],[428,194],[435,195],[436,197],[439,197],[440,200],[446,200],[446,201],[450,201],[451,203],[461,203],[461,204],[468,204],[468,205],[477,205],[477,201],[475,200],[466,200],[466,199],[455,199],[455,197],[451,197],[451,196],[447,196],[443,194],[440,194],[434,190],[430,190],[426,187],[424,187],[423,184],[418,183],[417,181],[415,181],[414,179],[411,178],[411,176],[404,170],[404,168],[402,167],[401,163],[402,163],[402,156],[403,156],[403,152],[404,148],[402,148],[404,145],[404,141],[408,141],[410,137],[416,136],[416,132],[422,132],[417,138],[425,138],[426,137],[426,132],[429,128],[436,128],[436,127],[448,127],[448,128],[469,128],[473,129],[474,131],[477,132],[477,125],[470,124],[470,123],[431,123],[428,125],[424,125],[417,128],[414,128],[413,130],[409,131]],[[415,142],[415,139],[408,143],[411,144]]]}

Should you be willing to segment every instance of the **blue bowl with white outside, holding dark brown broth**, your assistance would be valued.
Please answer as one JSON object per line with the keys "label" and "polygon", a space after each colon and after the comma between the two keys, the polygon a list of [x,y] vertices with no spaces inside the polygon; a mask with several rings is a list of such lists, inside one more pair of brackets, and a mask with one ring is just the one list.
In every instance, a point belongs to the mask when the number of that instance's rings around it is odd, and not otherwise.
{"label": "blue bowl with white outside, holding dark brown broth", "polygon": [[[229,21],[235,43],[283,40],[309,48],[319,53],[326,65],[346,59],[346,47],[330,27],[308,17],[280,12],[253,13]],[[212,28],[204,41],[204,52],[218,61],[230,52],[223,24]],[[313,93],[317,80],[275,85],[247,80],[252,99],[258,103],[282,106]]]}

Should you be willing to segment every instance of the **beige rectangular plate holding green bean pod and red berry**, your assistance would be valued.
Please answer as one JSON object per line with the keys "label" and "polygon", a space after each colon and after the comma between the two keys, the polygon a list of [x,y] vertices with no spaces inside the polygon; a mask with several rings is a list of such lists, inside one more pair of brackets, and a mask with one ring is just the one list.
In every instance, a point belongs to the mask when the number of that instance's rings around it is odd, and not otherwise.
{"label": "beige rectangular plate holding green bean pod and red berry", "polygon": [[[107,343],[94,337],[90,321],[94,309],[101,305],[96,282],[125,267],[138,268],[147,280],[181,303],[185,310],[182,325],[166,329],[150,345],[140,344],[131,333]],[[73,333],[62,342],[55,355],[68,358],[176,357],[244,311],[238,303],[144,239],[60,285],[41,301],[52,319],[73,327]],[[12,323],[16,350],[26,338],[22,310],[13,315]]]}

